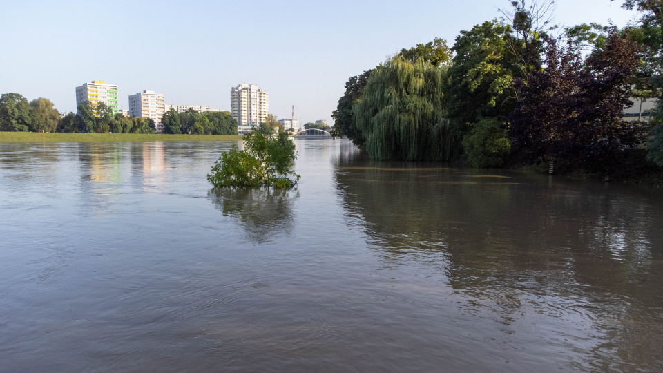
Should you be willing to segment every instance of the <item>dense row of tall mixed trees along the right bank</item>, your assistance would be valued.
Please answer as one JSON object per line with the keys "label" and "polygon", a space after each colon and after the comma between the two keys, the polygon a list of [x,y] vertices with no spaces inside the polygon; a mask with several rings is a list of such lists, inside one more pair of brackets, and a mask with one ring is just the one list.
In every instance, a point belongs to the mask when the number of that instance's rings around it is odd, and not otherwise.
{"label": "dense row of tall mixed trees along the right bank", "polygon": [[[663,3],[623,7],[637,23],[559,30],[554,1],[510,1],[451,47],[436,38],[350,77],[333,131],[377,160],[663,166]],[[633,97],[658,100],[651,123],[622,119]]]}

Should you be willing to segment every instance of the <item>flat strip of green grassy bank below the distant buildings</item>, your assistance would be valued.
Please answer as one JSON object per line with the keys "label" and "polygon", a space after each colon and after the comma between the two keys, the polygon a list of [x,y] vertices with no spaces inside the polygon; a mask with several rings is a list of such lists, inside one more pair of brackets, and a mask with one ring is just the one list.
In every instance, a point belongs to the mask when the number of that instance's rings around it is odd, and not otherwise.
{"label": "flat strip of green grassy bank below the distant buildings", "polygon": [[238,135],[140,135],[135,133],[35,133],[0,132],[0,142],[123,142],[123,141],[224,141]]}

